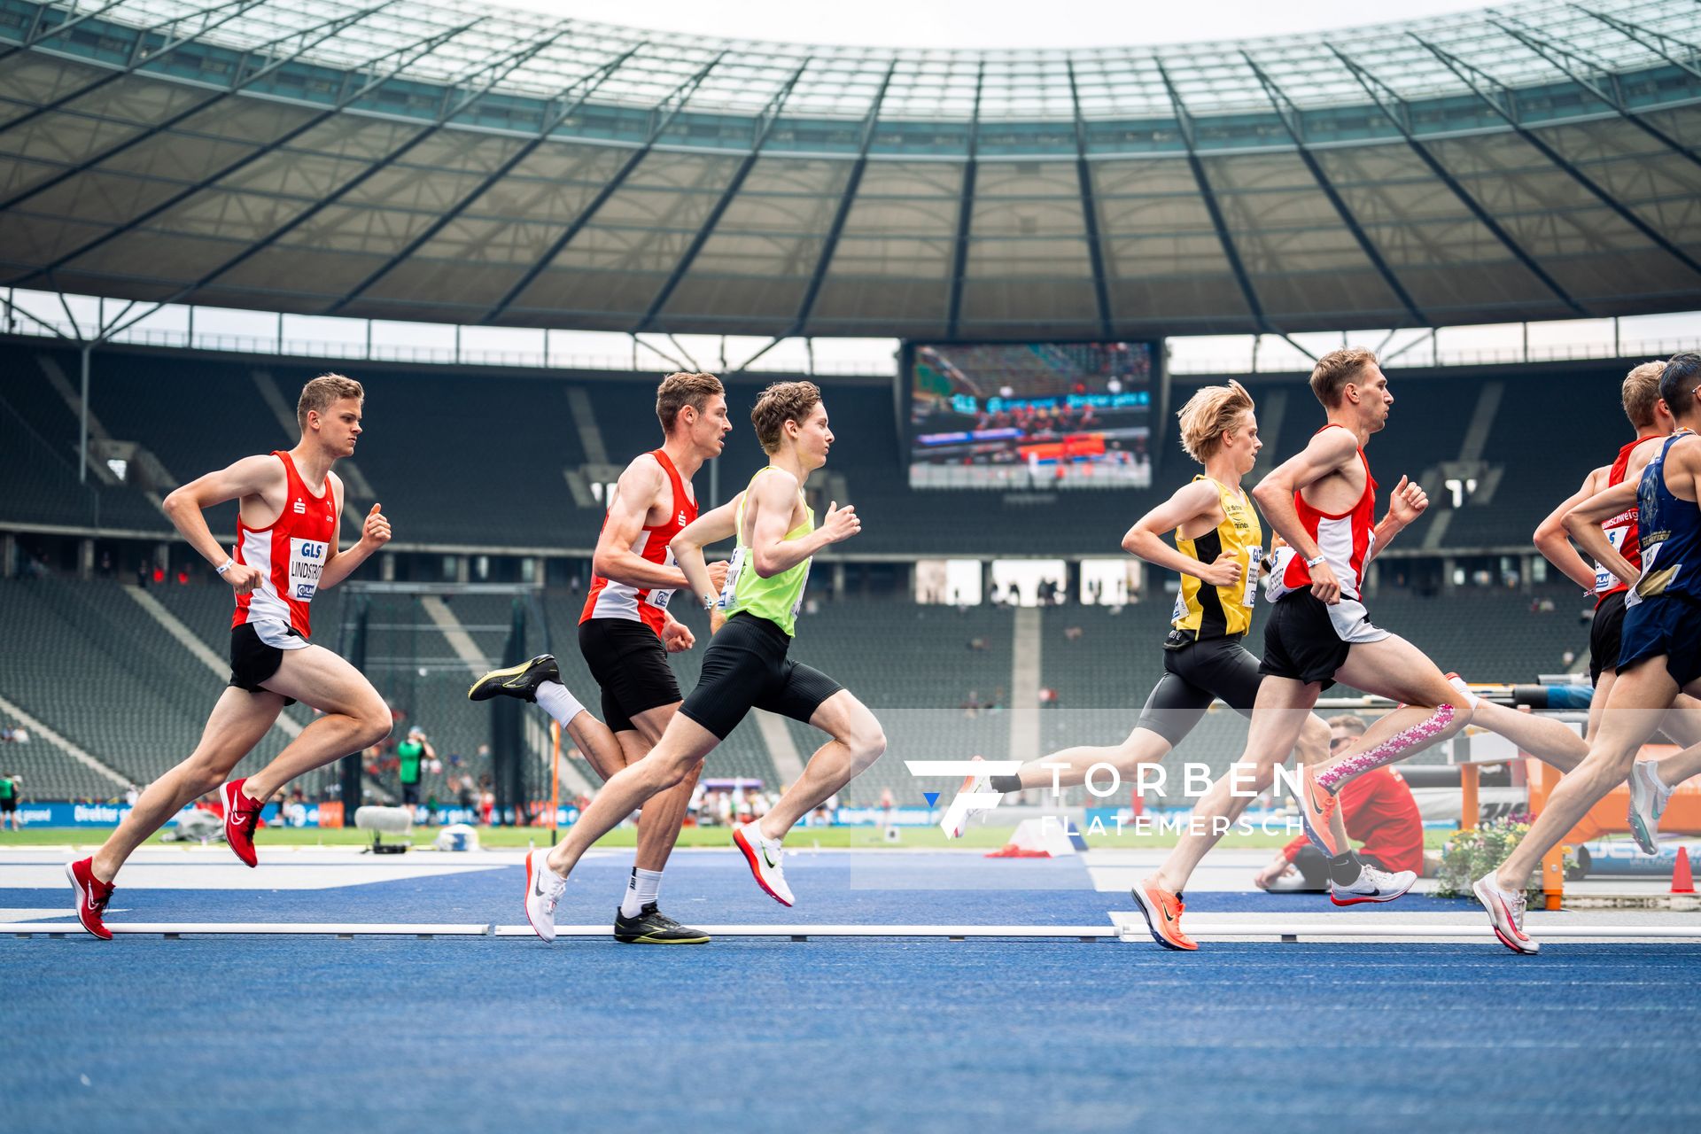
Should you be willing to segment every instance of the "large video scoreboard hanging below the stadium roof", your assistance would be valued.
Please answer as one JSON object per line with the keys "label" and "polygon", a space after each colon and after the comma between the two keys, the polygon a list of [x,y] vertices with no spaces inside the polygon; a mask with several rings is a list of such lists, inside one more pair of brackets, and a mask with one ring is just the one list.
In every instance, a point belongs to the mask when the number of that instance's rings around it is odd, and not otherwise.
{"label": "large video scoreboard hanging below the stadium roof", "polygon": [[1146,488],[1148,342],[912,343],[912,488]]}

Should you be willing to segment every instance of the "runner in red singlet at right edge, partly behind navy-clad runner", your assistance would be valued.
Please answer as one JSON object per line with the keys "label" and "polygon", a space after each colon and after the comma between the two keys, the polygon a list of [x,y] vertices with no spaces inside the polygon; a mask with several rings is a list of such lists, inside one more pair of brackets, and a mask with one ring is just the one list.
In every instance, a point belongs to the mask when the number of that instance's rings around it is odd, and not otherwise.
{"label": "runner in red singlet at right edge, partly behind navy-clad runner", "polygon": [[[1577,549],[1572,547],[1565,534],[1565,513],[1589,500],[1599,491],[1624,481],[1638,483],[1648,461],[1660,451],[1660,445],[1672,434],[1677,423],[1672,411],[1660,398],[1660,374],[1664,362],[1643,362],[1633,369],[1619,391],[1624,417],[1636,430],[1636,439],[1618,451],[1613,464],[1601,466],[1584,478],[1582,488],[1572,493],[1548,519],[1536,527],[1536,549],[1548,558],[1567,578],[1582,585],[1594,595],[1596,610],[1589,627],[1589,678],[1594,683],[1594,699],[1589,702],[1589,740],[1596,738],[1601,728],[1601,712],[1613,694],[1613,682],[1618,677],[1619,639],[1624,627],[1624,598],[1630,585],[1613,575],[1602,564],[1589,564]],[[1606,519],[1601,527],[1607,542],[1638,571],[1641,570],[1641,544],[1636,539],[1636,505],[1614,517]],[[1701,702],[1686,694],[1677,695],[1677,702],[1660,723],[1660,729],[1682,748],[1701,743]],[[1681,784],[1701,765],[1669,765],[1665,768],[1675,775],[1674,784]],[[1658,852],[1660,814],[1670,789],[1655,772],[1648,760],[1638,760],[1630,772],[1630,831],[1643,853]]]}

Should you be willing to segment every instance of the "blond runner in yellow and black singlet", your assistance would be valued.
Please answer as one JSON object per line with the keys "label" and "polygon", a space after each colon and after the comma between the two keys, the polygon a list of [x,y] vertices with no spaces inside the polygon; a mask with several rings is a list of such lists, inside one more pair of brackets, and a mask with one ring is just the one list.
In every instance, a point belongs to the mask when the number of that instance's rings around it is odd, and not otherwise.
{"label": "blond runner in yellow and black singlet", "polygon": [[[1162,762],[1199,724],[1213,700],[1252,716],[1264,678],[1259,660],[1240,643],[1252,627],[1264,532],[1240,479],[1257,464],[1264,447],[1255,410],[1252,394],[1235,381],[1196,391],[1175,417],[1182,451],[1203,464],[1204,473],[1140,517],[1123,537],[1128,553],[1180,575],[1172,629],[1163,639],[1163,677],[1152,687],[1135,731],[1121,745],[1075,746],[1039,757],[1014,775],[968,777],[963,792],[1073,787],[1087,782],[1094,765],[1138,777],[1140,765]],[[1167,530],[1175,532],[1174,547],[1163,542]],[[1328,726],[1308,714],[1300,758],[1320,762],[1327,755]],[[1242,809],[1243,802],[1230,819]],[[961,835],[961,828],[956,833]],[[1345,842],[1344,828],[1337,838]],[[1332,882],[1337,901],[1363,901],[1359,894],[1398,896],[1393,889],[1403,893],[1398,881],[1378,877],[1380,872],[1363,876],[1359,867],[1356,855],[1342,862],[1339,881]]]}

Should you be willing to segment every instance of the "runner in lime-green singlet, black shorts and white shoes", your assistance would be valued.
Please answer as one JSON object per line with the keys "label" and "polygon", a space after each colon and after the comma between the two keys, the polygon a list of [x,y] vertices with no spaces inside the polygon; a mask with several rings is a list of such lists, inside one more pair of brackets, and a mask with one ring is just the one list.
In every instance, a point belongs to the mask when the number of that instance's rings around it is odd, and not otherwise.
{"label": "runner in lime-green singlet, black shorts and white shoes", "polygon": [[[886,750],[879,721],[861,700],[825,673],[786,658],[810,558],[861,530],[856,510],[837,503],[816,529],[803,500],[803,481],[827,464],[833,442],[822,391],[813,383],[776,383],[762,391],[750,420],[769,466],[672,541],[692,593],[704,609],[723,605],[726,624],[709,643],[703,678],[662,741],[609,779],[558,847],[526,855],[526,916],[544,940],[555,940],[556,903],[585,850],[646,799],[687,779],[752,707],[808,721],[832,736],[765,816],[733,830],[757,884],[786,906],[793,904],[782,872],[786,831]],[[737,551],[716,593],[703,547],[728,537],[737,537]]]}

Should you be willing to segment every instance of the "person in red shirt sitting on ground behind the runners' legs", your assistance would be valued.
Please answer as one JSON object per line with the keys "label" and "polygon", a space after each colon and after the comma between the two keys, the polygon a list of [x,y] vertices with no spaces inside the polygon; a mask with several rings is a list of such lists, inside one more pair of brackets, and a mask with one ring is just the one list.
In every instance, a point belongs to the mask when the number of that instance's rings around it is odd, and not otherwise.
{"label": "person in red shirt sitting on ground behind the runners' legs", "polygon": [[[1364,734],[1357,716],[1328,717],[1328,750],[1339,753]],[[1424,818],[1391,768],[1373,768],[1340,789],[1340,818],[1347,838],[1363,843],[1359,859],[1378,870],[1424,872]],[[1300,835],[1252,879],[1274,893],[1323,893],[1328,889],[1328,859]]]}

